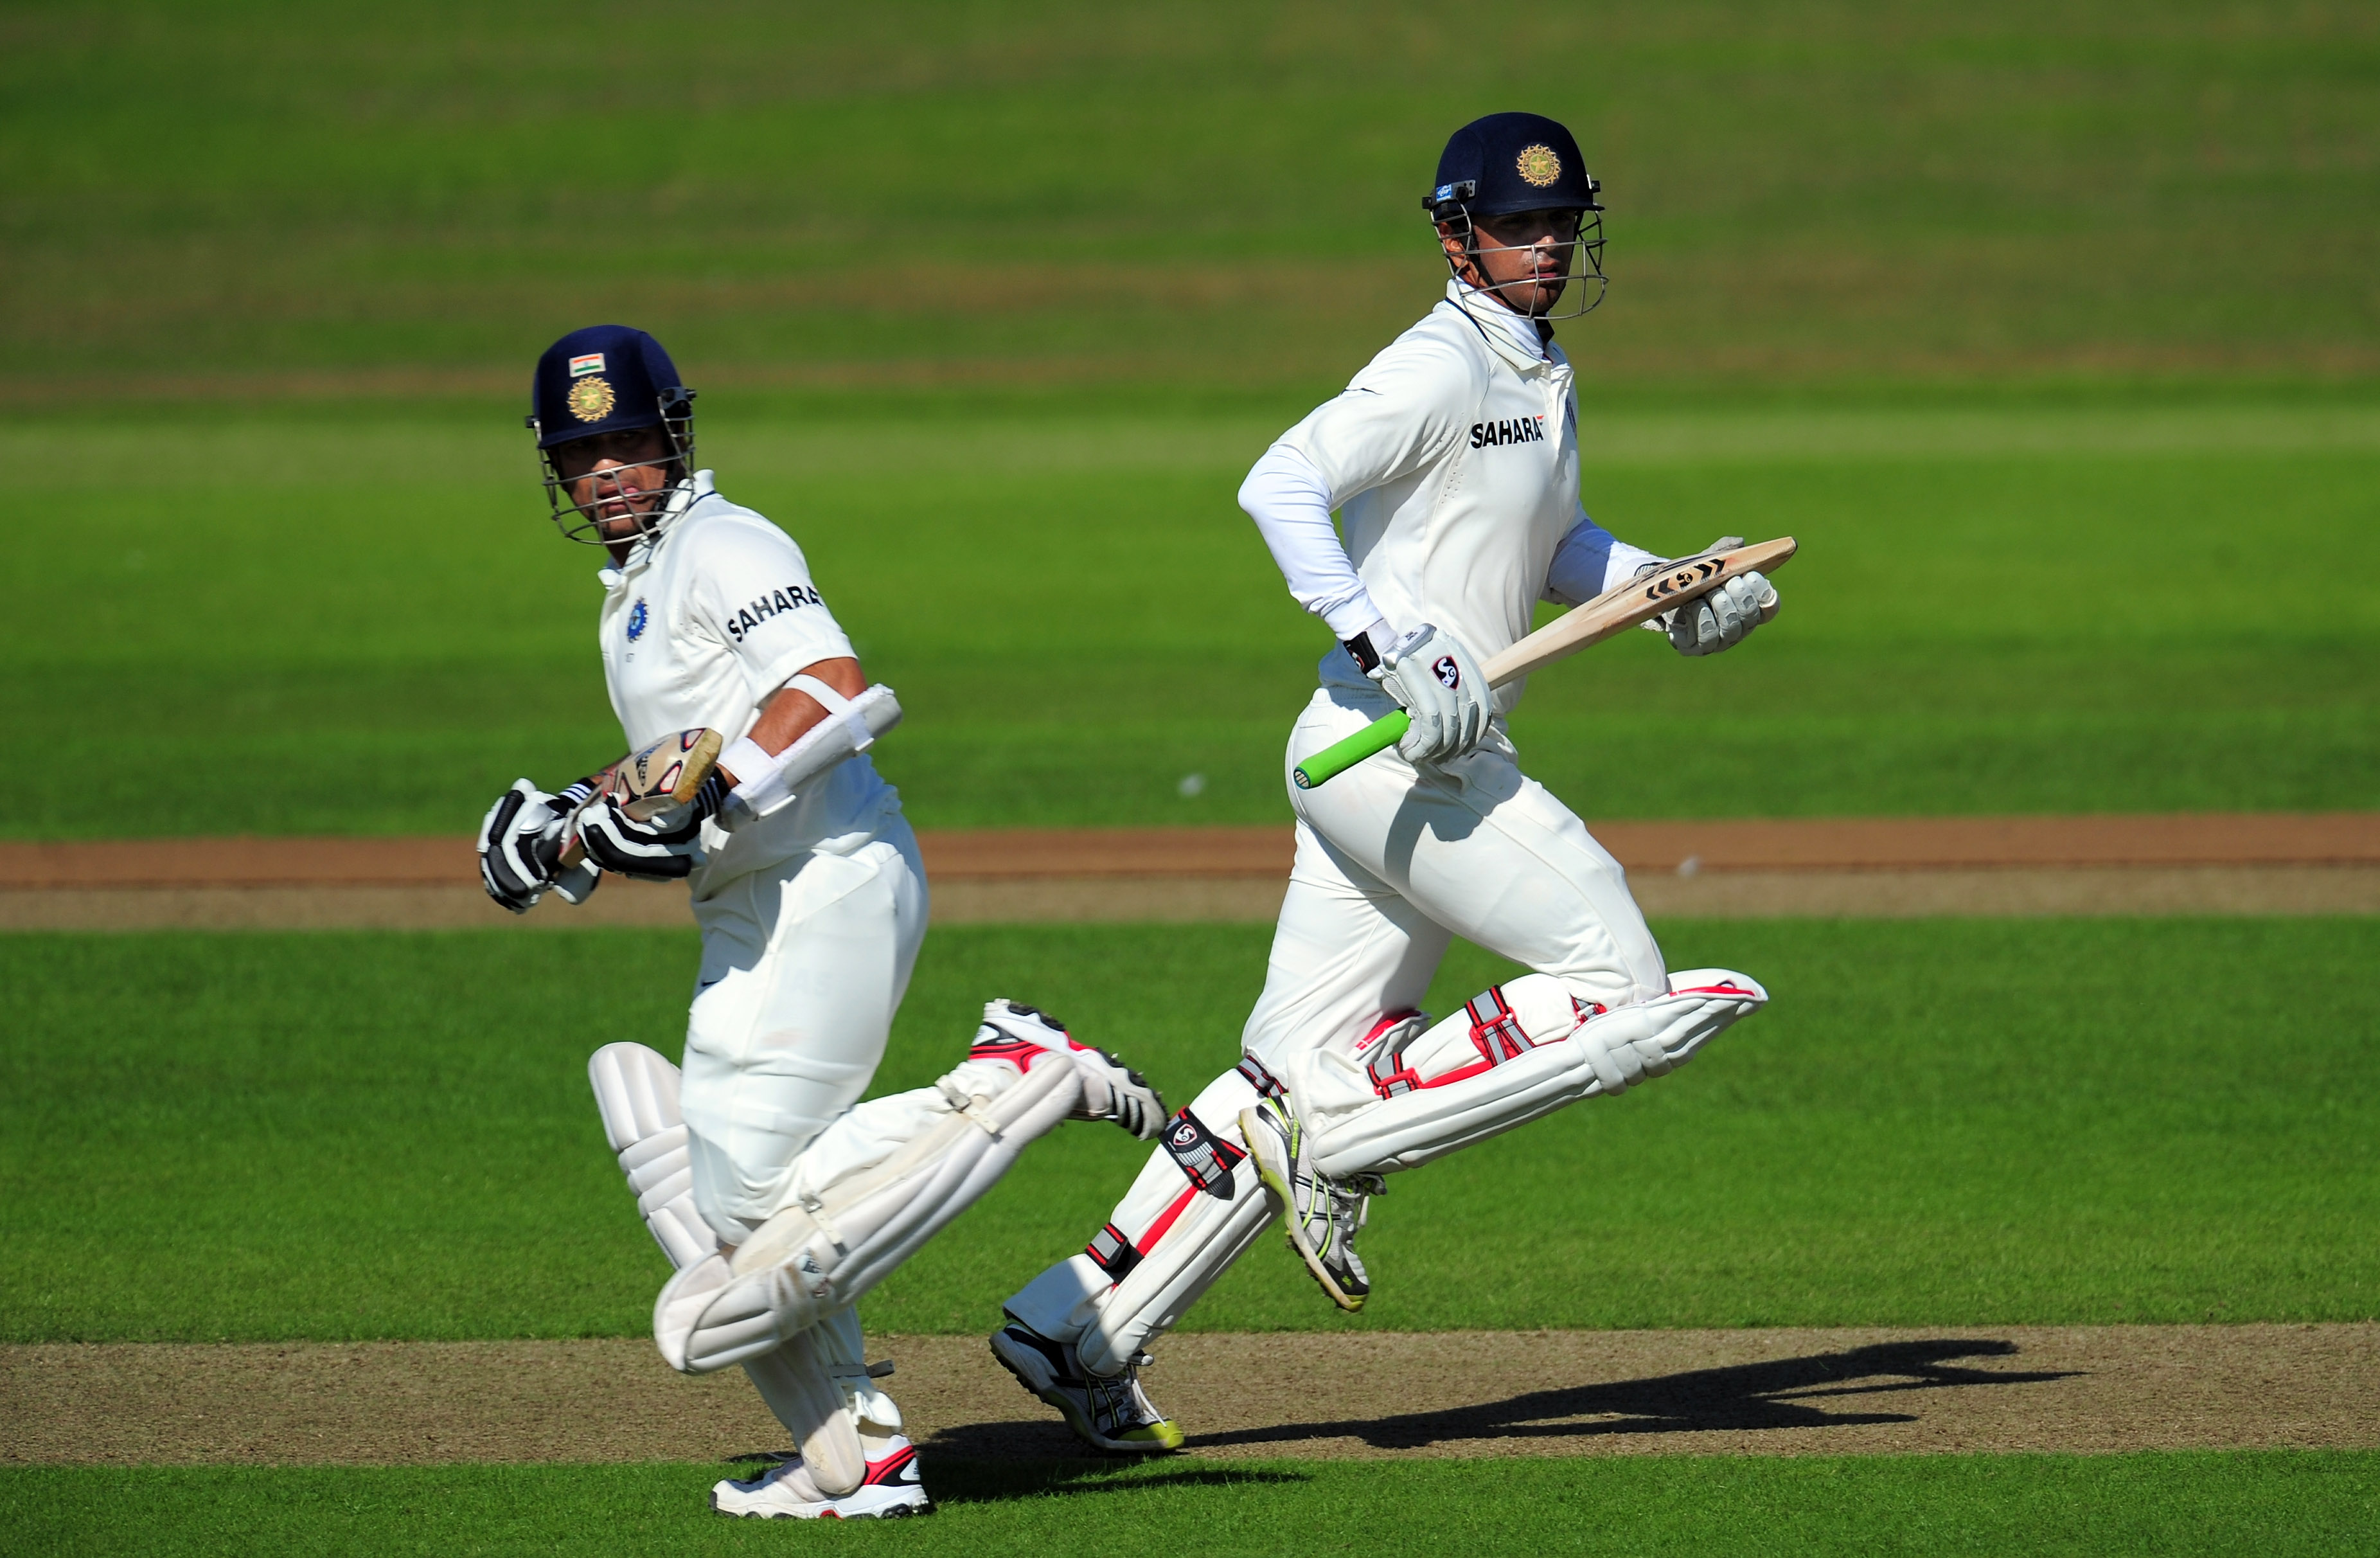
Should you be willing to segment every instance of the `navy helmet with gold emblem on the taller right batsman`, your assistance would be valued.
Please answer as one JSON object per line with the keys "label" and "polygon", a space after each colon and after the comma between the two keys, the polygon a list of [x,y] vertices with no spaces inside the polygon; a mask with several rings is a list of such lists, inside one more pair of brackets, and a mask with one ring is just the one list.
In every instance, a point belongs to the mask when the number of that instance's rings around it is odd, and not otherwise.
{"label": "navy helmet with gold emblem on the taller right batsman", "polygon": [[1604,300],[1604,202],[1597,200],[1602,183],[1587,172],[1578,155],[1578,141],[1559,119],[1545,114],[1488,114],[1454,131],[1447,150],[1438,155],[1438,181],[1421,198],[1430,222],[1442,224],[1464,243],[1464,257],[1447,255],[1454,281],[1471,291],[1509,293],[1518,283],[1485,288],[1480,283],[1480,250],[1473,219],[1509,217],[1514,212],[1578,212],[1578,238],[1568,245],[1564,269],[1580,264],[1578,291],[1571,307],[1554,312],[1554,293],[1568,291],[1568,281],[1557,288],[1530,286],[1523,298],[1499,298],[1507,307],[1537,319],[1576,319],[1592,312]]}

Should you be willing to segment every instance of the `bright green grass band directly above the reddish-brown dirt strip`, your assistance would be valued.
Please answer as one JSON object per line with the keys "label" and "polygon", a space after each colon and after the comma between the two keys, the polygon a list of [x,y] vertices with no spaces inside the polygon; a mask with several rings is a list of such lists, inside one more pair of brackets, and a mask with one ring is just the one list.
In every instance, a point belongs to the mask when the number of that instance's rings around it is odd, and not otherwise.
{"label": "bright green grass band directly above the reddish-brown dirt strip", "polygon": [[[1288,817],[1328,638],[1233,491],[1295,400],[800,410],[719,395],[704,460],[900,688],[919,824]],[[1533,679],[1523,760],[1590,817],[2380,805],[2380,405],[1590,393],[1583,438],[1621,536],[1804,541],[1742,650]],[[616,755],[600,557],[512,417],[33,419],[0,460],[74,472],[0,553],[0,722],[76,774],[0,836],[462,834]]]}

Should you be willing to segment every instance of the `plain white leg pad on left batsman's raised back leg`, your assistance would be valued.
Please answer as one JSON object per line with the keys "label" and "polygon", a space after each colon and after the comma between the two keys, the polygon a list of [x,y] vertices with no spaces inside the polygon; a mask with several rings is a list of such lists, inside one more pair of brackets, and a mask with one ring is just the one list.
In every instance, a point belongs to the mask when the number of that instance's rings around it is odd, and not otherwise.
{"label": "plain white leg pad on left batsman's raised back leg", "polygon": [[1026,1072],[969,1060],[919,1096],[931,1096],[928,1124],[907,1143],[828,1184],[795,1174],[800,1201],[769,1217],[733,1265],[709,1255],[669,1279],[652,1334],[671,1367],[724,1370],[857,1303],[1081,1108],[1083,1074],[1054,1051]]}

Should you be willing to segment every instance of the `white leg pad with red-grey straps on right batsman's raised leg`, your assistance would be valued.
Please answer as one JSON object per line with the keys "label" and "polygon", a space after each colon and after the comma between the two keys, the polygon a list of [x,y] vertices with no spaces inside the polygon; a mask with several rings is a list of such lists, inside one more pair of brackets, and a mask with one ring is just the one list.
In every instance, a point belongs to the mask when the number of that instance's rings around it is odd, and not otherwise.
{"label": "white leg pad with red-grey straps on right batsman's raised leg", "polygon": [[1528,1124],[1566,1103],[1623,1093],[1666,1077],[1714,1034],[1766,1001],[1756,981],[1730,970],[1668,977],[1668,993],[1616,1010],[1580,1015],[1549,974],[1499,986],[1507,1020],[1488,1022],[1480,996],[1404,1051],[1411,1091],[1352,1113],[1309,1120],[1314,1167],[1330,1177],[1407,1170],[1457,1148]]}

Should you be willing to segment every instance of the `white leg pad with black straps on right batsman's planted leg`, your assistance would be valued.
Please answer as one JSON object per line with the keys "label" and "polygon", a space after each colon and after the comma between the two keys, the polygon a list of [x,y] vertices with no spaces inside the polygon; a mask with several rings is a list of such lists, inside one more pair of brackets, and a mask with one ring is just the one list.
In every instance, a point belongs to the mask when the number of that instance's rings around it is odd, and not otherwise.
{"label": "white leg pad with black straps on right batsman's planted leg", "polygon": [[[1121,1375],[1273,1220],[1240,1139],[1240,1110],[1254,1103],[1257,1089],[1238,1070],[1209,1082],[1166,1124],[1090,1248],[1026,1284],[1007,1313],[1071,1341],[1092,1375]],[[1185,1120],[1197,1129],[1183,1132]]]}

